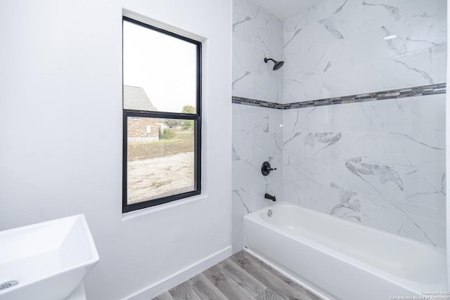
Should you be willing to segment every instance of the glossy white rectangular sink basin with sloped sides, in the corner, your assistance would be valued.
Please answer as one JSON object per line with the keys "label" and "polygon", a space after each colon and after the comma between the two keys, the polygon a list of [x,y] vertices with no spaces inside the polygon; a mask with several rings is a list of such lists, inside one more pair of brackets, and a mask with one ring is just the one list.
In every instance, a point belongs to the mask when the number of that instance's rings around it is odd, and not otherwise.
{"label": "glossy white rectangular sink basin with sloped sides, in the corner", "polygon": [[63,300],[98,262],[84,215],[0,232],[0,300]]}

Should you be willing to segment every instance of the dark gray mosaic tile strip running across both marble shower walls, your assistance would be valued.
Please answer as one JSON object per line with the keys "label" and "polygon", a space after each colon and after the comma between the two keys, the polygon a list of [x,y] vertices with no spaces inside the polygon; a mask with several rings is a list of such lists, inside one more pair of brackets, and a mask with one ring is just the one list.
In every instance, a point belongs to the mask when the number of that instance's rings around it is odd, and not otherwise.
{"label": "dark gray mosaic tile strip running across both marble shower walls", "polygon": [[378,91],[378,92],[374,92],[374,93],[362,93],[359,95],[343,96],[343,97],[335,97],[335,98],[325,98],[325,99],[319,99],[319,100],[311,100],[311,101],[295,102],[295,103],[287,103],[287,104],[274,103],[274,102],[242,98],[242,97],[235,97],[235,96],[233,96],[231,98],[231,102],[236,103],[236,104],[243,104],[243,105],[274,108],[276,110],[291,110],[291,109],[295,109],[295,108],[316,107],[316,106],[323,106],[323,105],[356,103],[356,102],[366,102],[366,101],[375,101],[375,100],[434,95],[437,93],[445,93],[445,92],[446,92],[446,83],[443,83],[443,84],[430,84],[429,86],[414,86],[412,88],[406,88],[406,89]]}

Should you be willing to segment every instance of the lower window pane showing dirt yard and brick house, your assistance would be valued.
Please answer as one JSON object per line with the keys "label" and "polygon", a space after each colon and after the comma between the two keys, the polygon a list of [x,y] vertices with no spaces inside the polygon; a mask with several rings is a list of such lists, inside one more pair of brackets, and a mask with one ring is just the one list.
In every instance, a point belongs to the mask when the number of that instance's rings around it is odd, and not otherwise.
{"label": "lower window pane showing dirt yard and brick house", "polygon": [[194,121],[127,117],[127,203],[195,190]]}

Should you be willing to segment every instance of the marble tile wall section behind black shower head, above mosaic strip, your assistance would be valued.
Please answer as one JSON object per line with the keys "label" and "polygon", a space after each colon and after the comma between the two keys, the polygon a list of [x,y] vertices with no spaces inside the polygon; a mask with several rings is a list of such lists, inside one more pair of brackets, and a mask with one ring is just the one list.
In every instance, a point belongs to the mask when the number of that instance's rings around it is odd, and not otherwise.
{"label": "marble tile wall section behind black shower head, above mosaic strip", "polygon": [[283,22],[251,0],[233,0],[233,96],[282,103]]}

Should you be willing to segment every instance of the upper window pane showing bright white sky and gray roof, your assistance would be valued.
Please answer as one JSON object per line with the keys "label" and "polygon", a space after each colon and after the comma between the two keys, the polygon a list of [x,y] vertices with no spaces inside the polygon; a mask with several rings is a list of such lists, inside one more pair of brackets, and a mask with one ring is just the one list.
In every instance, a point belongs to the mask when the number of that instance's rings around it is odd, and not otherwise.
{"label": "upper window pane showing bright white sky and gray roof", "polygon": [[123,31],[124,93],[131,93],[124,94],[124,109],[182,112],[190,105],[195,113],[197,45],[126,20]]}

